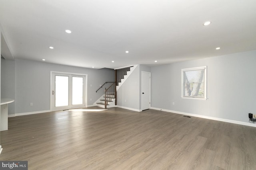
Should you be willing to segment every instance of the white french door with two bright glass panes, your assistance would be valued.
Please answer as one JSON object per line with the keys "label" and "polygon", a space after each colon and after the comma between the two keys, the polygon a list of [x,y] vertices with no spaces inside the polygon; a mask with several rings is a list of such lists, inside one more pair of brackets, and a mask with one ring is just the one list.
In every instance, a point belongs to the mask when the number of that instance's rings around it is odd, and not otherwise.
{"label": "white french door with two bright glass panes", "polygon": [[51,73],[51,110],[86,106],[86,74]]}

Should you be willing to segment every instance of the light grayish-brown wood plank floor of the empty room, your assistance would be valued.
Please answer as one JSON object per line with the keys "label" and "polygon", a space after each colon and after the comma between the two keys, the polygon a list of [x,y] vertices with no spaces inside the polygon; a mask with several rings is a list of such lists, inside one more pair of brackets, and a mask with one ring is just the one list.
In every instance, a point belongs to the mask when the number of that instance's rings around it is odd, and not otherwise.
{"label": "light grayish-brown wood plank floor of the empty room", "polygon": [[255,127],[117,107],[8,121],[0,160],[28,160],[29,170],[256,169]]}

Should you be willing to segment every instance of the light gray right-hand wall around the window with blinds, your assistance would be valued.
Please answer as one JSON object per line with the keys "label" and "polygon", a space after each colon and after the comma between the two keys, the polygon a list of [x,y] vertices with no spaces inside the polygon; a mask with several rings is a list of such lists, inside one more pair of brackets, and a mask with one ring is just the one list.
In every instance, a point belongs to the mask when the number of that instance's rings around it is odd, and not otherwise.
{"label": "light gray right-hand wall around the window with blinds", "polygon": [[[151,67],[151,107],[248,122],[256,113],[256,51]],[[181,69],[207,66],[208,100],[181,98]],[[175,102],[175,105],[172,104]]]}

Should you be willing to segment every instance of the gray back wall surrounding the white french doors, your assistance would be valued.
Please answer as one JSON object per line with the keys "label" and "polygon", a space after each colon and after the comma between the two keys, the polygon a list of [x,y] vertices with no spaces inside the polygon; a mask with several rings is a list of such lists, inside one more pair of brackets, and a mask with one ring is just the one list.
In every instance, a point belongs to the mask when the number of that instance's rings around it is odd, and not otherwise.
{"label": "gray back wall surrounding the white french doors", "polygon": [[[90,69],[37,61],[16,59],[15,61],[15,113],[50,110],[50,71],[71,72],[88,75],[87,105],[92,105],[102,94],[96,90],[106,81],[114,81],[114,70]],[[5,63],[6,67],[13,64]],[[2,72],[2,75],[8,74]],[[2,83],[3,84],[3,83]],[[6,90],[10,94],[12,90]],[[33,103],[33,106],[30,106]],[[9,112],[10,113],[10,112]]]}

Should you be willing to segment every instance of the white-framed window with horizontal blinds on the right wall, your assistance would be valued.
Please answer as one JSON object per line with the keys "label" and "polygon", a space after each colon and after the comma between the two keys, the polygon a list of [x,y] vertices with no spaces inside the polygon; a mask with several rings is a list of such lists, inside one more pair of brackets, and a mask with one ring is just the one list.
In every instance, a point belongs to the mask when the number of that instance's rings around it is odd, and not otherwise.
{"label": "white-framed window with horizontal blinds on the right wall", "polygon": [[206,68],[182,69],[182,98],[206,99]]}

